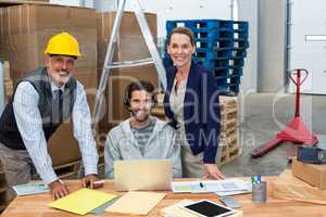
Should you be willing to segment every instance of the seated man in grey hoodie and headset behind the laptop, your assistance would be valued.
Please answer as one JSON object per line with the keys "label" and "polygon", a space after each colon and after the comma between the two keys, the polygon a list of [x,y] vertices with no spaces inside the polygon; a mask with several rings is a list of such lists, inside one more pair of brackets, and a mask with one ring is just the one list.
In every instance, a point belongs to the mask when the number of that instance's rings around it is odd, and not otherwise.
{"label": "seated man in grey hoodie and headset behind the laptop", "polygon": [[170,158],[173,176],[181,177],[180,146],[176,143],[174,129],[150,115],[155,101],[153,91],[152,84],[142,80],[126,88],[124,104],[131,117],[108,133],[104,148],[108,178],[114,177],[114,161],[145,158]]}

